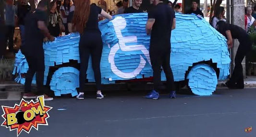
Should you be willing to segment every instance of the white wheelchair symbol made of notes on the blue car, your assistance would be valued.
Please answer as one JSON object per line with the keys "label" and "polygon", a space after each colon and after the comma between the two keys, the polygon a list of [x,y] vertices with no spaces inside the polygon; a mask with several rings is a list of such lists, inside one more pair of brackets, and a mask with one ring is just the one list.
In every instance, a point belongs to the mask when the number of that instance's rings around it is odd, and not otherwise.
{"label": "white wheelchair symbol made of notes on the blue car", "polygon": [[[136,36],[124,36],[124,37],[122,36],[121,30],[123,30],[126,27],[126,21],[124,18],[116,17],[111,22],[113,23],[114,30],[116,32],[116,36],[119,40],[119,42],[116,43],[110,49],[109,63],[111,66],[111,70],[114,74],[116,74],[117,76],[119,76],[121,78],[134,78],[135,76],[140,74],[142,69],[145,67],[146,60],[151,65],[150,58],[149,58],[149,52],[144,45],[129,45],[129,46],[125,45],[125,43],[137,42],[137,37]],[[140,64],[133,72],[127,72],[127,73],[122,72],[121,70],[119,70],[117,68],[117,66],[115,65],[115,60],[114,60],[115,54],[117,53],[117,51],[119,49],[121,49],[124,52],[141,51],[145,55],[146,60],[142,57],[142,55],[140,55]]]}

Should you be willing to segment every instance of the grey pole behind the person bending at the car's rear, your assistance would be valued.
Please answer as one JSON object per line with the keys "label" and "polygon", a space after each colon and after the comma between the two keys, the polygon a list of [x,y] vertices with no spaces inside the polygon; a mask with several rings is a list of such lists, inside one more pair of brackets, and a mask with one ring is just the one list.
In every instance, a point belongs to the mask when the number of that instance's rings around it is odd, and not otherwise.
{"label": "grey pole behind the person bending at the car's rear", "polygon": [[[244,23],[244,0],[227,0],[227,21],[231,24],[245,29]],[[234,68],[234,59],[239,46],[238,40],[234,40],[231,50],[232,70]],[[246,77],[245,58],[242,62],[244,78]]]}

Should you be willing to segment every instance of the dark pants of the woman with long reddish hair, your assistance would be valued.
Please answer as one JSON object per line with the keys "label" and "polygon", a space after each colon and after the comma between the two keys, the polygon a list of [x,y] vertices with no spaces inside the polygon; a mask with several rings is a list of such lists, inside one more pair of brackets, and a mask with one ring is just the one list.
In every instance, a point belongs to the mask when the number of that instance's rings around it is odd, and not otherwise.
{"label": "dark pants of the woman with long reddish hair", "polygon": [[102,39],[100,32],[85,32],[79,41],[80,74],[79,92],[85,90],[85,75],[88,68],[89,56],[92,57],[92,67],[96,81],[97,90],[101,90],[100,60],[102,54]]}

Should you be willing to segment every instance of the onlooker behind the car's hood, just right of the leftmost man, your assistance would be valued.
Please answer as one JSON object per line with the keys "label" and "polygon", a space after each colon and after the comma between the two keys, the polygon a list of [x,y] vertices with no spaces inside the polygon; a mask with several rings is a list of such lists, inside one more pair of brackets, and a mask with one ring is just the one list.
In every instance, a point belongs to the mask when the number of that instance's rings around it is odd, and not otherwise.
{"label": "onlooker behind the car's hood, just right of the leftmost man", "polygon": [[49,12],[49,24],[48,24],[48,30],[51,35],[54,37],[58,37],[61,33],[59,19],[61,18],[59,16],[59,13],[57,12],[57,4],[56,0],[53,0],[50,2],[49,5],[50,12]]}

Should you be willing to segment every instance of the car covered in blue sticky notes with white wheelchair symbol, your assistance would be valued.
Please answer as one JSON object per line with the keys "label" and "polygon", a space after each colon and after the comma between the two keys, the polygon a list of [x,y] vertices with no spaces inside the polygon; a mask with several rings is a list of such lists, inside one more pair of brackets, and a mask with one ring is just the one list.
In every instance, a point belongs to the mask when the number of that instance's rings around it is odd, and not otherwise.
{"label": "car covered in blue sticky notes with white wheelchair symbol", "polygon": [[[102,32],[103,52],[100,63],[102,84],[115,81],[153,76],[149,58],[149,40],[146,35],[147,13],[121,14],[112,20],[99,22]],[[54,67],[50,88],[55,95],[77,95],[79,70],[69,63],[80,63],[78,43],[80,36],[72,33],[57,37],[54,42],[44,44],[45,79]],[[171,68],[174,81],[188,80],[195,95],[212,95],[219,80],[227,79],[230,57],[226,39],[204,19],[185,14],[176,14],[176,29],[171,32]],[[28,65],[24,55],[16,54],[13,74],[24,84]],[[87,79],[94,82],[91,61]],[[162,80],[165,75],[162,73]],[[35,80],[33,81],[35,83]]]}

